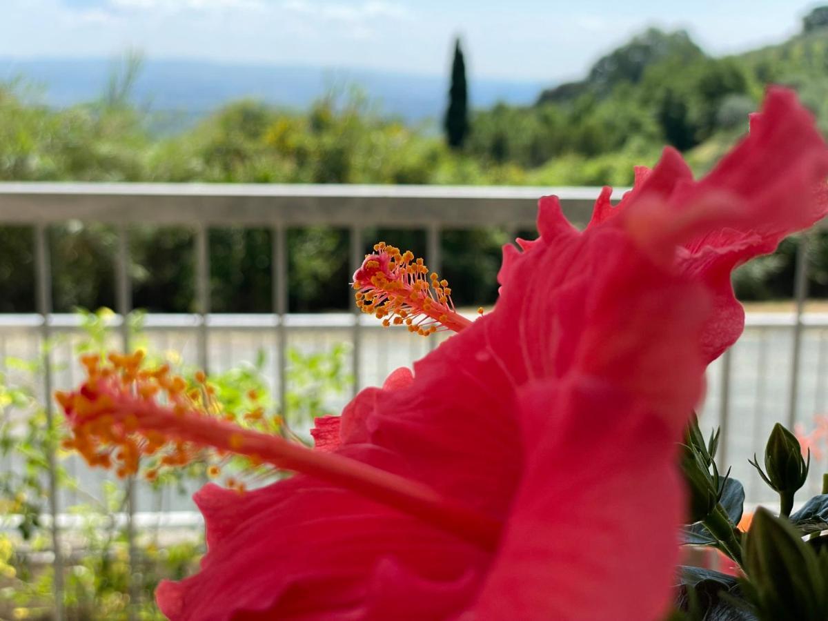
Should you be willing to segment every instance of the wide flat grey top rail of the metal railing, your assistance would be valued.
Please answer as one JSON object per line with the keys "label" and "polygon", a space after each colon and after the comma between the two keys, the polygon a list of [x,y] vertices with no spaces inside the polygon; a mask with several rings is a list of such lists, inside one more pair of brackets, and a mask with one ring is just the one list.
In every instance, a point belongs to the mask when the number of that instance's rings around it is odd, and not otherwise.
{"label": "wide flat grey top rail of the metal railing", "polygon": [[[615,190],[619,198],[623,189]],[[599,187],[0,183],[0,224],[80,219],[110,224],[532,228],[537,199],[557,195],[586,224]]]}

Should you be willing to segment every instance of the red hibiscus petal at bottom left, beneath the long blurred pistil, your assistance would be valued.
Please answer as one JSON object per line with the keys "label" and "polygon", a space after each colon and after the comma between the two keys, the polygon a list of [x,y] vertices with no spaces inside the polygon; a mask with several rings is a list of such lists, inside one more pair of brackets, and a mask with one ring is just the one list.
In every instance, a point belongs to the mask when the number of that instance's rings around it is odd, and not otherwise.
{"label": "red hibiscus petal at bottom left, beneath the long blurred pistil", "polygon": [[174,621],[388,619],[393,575],[407,576],[398,611],[445,617],[487,564],[475,546],[302,476],[242,496],[210,484],[195,498],[208,554],[198,574],[156,591]]}

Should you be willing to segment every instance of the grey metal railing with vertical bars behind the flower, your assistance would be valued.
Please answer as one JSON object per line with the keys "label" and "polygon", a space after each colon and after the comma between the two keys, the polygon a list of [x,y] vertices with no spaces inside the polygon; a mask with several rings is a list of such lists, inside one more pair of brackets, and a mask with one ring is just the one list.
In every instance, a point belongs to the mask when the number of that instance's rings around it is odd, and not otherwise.
{"label": "grey metal railing with vertical bars behind the flower", "polygon": [[[180,226],[192,229],[195,242],[195,295],[197,312],[186,315],[185,325],[195,334],[195,363],[205,370],[210,368],[212,341],[222,326],[233,330],[254,330],[270,335],[275,363],[272,368],[274,390],[280,395],[282,412],[286,410],[286,348],[288,332],[307,327],[334,330],[344,339],[350,339],[354,392],[365,383],[365,339],[377,327],[371,318],[361,317],[354,308],[340,315],[297,317],[287,308],[289,282],[287,271],[286,231],[294,227],[330,225],[349,232],[349,264],[352,270],[363,260],[363,229],[389,227],[394,229],[422,229],[426,232],[426,263],[440,269],[440,236],[445,229],[472,229],[500,227],[509,232],[533,229],[537,214],[537,198],[556,194],[561,206],[573,224],[583,226],[590,219],[592,205],[599,188],[533,188],[533,187],[451,187],[451,186],[375,186],[375,185],[171,185],[171,184],[0,184],[0,225],[31,226],[35,248],[36,315],[0,316],[2,330],[36,330],[41,343],[55,331],[70,329],[64,316],[52,309],[51,259],[47,229],[51,225],[70,220],[85,223],[111,224],[117,230],[117,253],[113,266],[116,287],[116,310],[124,317],[132,310],[132,283],[130,264],[130,227],[139,224]],[[620,194],[617,193],[616,196]],[[248,315],[244,320],[211,315],[209,287],[209,228],[266,227],[272,232],[272,309],[270,315]],[[783,419],[791,425],[797,420],[802,397],[802,344],[806,329],[819,330],[819,351],[822,351],[823,328],[828,328],[828,315],[806,315],[807,262],[806,247],[802,243],[797,255],[796,310],[793,314],[754,316],[749,318],[749,330],[758,335],[757,373],[767,373],[767,336],[773,330],[790,331],[790,373],[787,385],[787,404]],[[164,317],[167,317],[165,322]],[[181,328],[182,315],[150,317],[148,328],[163,330],[165,326]],[[129,347],[128,327],[122,322],[121,340]],[[388,333],[383,333],[388,335]],[[761,338],[759,338],[761,337]],[[374,337],[390,338],[388,336]],[[765,343],[765,345],[763,345]],[[433,346],[433,345],[432,345]],[[375,347],[375,345],[372,345]],[[42,390],[51,395],[55,387],[51,355],[46,349]],[[820,354],[821,355],[821,354]],[[722,427],[722,458],[728,457],[732,435],[731,409],[734,400],[734,352],[729,351],[715,363],[711,373],[718,376],[714,384],[715,398],[708,410],[715,410],[715,418]],[[380,369],[382,371],[382,369]],[[373,378],[374,380],[376,378]],[[758,384],[762,384],[759,382]],[[817,382],[817,390],[820,383]],[[758,386],[759,390],[764,389]],[[739,395],[737,395],[739,397]],[[763,405],[767,395],[757,393],[756,402]],[[741,397],[739,397],[741,398]],[[819,399],[816,399],[818,402]],[[46,413],[53,415],[52,400],[46,399]],[[755,433],[753,435],[756,435]],[[51,469],[51,514],[60,513],[55,479],[55,450],[48,455]],[[128,483],[128,540],[134,559],[133,518],[136,513],[134,487]],[[55,595],[60,602],[60,521],[51,520],[52,545],[55,550]],[[56,611],[61,619],[62,611]]]}

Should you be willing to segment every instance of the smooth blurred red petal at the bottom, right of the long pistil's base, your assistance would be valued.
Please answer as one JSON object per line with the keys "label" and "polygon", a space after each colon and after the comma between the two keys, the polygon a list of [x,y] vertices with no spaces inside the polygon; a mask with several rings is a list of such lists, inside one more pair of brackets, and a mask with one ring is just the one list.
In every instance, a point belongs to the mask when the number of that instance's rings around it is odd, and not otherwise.
{"label": "smooth blurred red petal at the bottom, right of the long pistil's base", "polygon": [[[528,390],[527,467],[474,613],[659,619],[678,557],[675,436],[611,387]],[[571,408],[562,421],[550,407]],[[555,475],[566,473],[566,475]],[[648,527],[647,525],[657,525]]]}

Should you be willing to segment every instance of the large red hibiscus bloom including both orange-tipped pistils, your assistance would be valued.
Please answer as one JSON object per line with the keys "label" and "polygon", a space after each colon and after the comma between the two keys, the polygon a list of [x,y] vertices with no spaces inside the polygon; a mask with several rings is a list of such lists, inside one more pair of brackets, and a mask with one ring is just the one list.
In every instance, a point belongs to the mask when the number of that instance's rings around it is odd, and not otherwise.
{"label": "large red hibiscus bloom including both orange-tipped pistils", "polygon": [[584,233],[542,199],[540,237],[505,248],[497,306],[470,325],[447,283],[378,245],[355,275],[363,309],[459,334],[319,421],[325,450],[233,427],[133,359],[90,362],[60,395],[69,445],[127,472],[210,445],[301,473],[196,494],[208,553],[159,587],[171,619],[658,619],[676,442],[735,338],[721,274],[816,219],[826,173],[811,118],[775,90],[699,183],[667,150]]}

